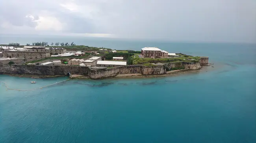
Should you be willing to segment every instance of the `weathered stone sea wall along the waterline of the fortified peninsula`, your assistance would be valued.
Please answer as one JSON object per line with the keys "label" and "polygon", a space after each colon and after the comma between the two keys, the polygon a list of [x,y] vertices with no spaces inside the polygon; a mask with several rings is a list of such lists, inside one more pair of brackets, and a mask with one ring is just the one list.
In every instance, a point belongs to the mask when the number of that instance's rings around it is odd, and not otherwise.
{"label": "weathered stone sea wall along the waterline of the fortified peninsula", "polygon": [[80,66],[46,66],[46,65],[0,65],[0,73],[5,74],[38,74],[38,75],[66,75],[79,74],[92,79],[114,77],[118,74],[159,75],[173,69],[200,69],[200,63],[167,63],[157,66],[127,65],[110,69],[91,69]]}

